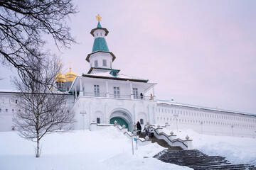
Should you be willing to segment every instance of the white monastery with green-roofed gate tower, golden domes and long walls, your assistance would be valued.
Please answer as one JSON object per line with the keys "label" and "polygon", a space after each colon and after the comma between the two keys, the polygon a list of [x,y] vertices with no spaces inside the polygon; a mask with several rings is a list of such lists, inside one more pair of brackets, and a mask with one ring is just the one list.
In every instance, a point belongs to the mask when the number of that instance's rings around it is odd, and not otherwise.
{"label": "white monastery with green-roofed gate tower, golden domes and long walls", "polygon": [[[65,74],[69,78],[68,86],[64,86],[63,74],[56,77],[60,89],[68,91],[65,93],[70,96],[76,130],[89,129],[92,122],[104,125],[117,120],[129,130],[139,121],[142,125],[167,125],[173,130],[189,128],[210,135],[256,137],[255,114],[157,100],[156,83],[112,68],[116,57],[107,46],[109,32],[102,28],[100,21],[90,33],[94,42],[92,52],[85,59],[90,64],[87,74],[77,76],[70,68]],[[11,101],[11,96],[15,93],[0,90],[0,131],[13,127],[15,101]]]}

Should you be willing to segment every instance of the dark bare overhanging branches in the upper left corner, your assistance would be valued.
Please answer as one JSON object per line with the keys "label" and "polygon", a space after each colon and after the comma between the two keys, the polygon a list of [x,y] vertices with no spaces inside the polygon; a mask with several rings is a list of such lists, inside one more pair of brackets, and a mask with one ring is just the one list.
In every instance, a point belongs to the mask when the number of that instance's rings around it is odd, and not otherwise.
{"label": "dark bare overhanging branches in the upper left corner", "polygon": [[[57,47],[70,47],[75,40],[65,20],[77,13],[72,0],[1,0],[0,57],[33,78],[29,57],[41,60],[46,37],[51,35]],[[44,36],[46,35],[46,36]]]}

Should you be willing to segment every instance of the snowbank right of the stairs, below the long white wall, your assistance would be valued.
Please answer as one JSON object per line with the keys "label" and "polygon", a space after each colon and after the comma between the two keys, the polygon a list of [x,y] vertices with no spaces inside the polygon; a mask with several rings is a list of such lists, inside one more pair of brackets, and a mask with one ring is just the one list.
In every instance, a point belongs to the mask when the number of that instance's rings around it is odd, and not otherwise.
{"label": "snowbank right of the stairs, below the long white wall", "polygon": [[256,139],[247,137],[214,136],[203,135],[193,130],[167,130],[163,131],[170,135],[173,131],[180,139],[188,135],[193,140],[193,149],[198,149],[208,155],[219,155],[228,159],[234,164],[256,165]]}

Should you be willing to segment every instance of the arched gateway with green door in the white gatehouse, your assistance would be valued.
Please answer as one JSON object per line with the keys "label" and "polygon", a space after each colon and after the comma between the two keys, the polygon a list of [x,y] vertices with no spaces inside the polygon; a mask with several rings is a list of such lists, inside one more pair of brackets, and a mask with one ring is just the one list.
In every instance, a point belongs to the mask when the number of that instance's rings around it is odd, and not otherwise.
{"label": "arched gateway with green door in the white gatehouse", "polygon": [[110,124],[114,124],[114,120],[117,120],[117,124],[125,125],[129,131],[133,129],[132,115],[124,108],[116,108],[110,114]]}

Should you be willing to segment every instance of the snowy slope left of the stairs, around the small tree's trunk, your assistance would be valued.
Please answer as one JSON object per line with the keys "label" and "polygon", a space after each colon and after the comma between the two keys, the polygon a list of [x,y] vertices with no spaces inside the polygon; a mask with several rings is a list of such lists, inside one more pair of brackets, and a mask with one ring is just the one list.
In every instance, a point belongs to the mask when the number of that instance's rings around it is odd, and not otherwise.
{"label": "snowy slope left of the stairs, around the small tree's trunk", "polygon": [[53,133],[42,138],[41,146],[41,157],[36,158],[36,142],[24,140],[16,132],[0,132],[0,169],[189,169],[153,158],[164,149],[157,144],[136,150],[134,143],[132,155],[131,139],[114,127]]}

